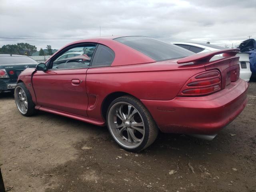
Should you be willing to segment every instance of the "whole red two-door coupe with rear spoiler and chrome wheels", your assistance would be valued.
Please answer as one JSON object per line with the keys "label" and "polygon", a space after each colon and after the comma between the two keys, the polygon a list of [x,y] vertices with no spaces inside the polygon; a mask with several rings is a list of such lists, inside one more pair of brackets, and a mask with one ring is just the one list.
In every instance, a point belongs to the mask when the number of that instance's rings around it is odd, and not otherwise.
{"label": "whole red two-door coupe with rear spoiler and chrome wheels", "polygon": [[24,70],[15,101],[24,116],[42,110],[107,125],[129,151],[150,146],[158,130],[214,138],[246,106],[238,51],[194,54],[141,36],[80,40]]}

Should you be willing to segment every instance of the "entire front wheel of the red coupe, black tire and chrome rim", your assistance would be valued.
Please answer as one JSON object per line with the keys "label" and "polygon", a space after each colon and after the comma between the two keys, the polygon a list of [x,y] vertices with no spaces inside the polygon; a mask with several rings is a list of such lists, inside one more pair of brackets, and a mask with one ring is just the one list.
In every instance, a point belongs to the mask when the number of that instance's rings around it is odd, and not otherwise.
{"label": "entire front wheel of the red coupe, black tire and chrome rim", "polygon": [[14,99],[19,112],[24,116],[36,113],[35,104],[24,83],[18,83],[14,89]]}

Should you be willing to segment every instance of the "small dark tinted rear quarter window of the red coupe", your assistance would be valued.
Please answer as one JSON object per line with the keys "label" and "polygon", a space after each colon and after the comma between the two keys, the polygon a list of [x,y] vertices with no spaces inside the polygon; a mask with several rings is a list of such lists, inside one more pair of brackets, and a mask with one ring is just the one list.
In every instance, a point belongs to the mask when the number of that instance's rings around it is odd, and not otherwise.
{"label": "small dark tinted rear quarter window of the red coupe", "polygon": [[99,44],[92,60],[92,66],[110,66],[114,58],[115,53],[112,49]]}

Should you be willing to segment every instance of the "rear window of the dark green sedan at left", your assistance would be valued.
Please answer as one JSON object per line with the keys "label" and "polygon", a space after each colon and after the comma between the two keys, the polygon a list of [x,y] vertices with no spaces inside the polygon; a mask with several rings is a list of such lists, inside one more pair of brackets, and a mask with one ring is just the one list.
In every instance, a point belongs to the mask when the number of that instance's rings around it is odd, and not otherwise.
{"label": "rear window of the dark green sedan at left", "polygon": [[37,64],[34,59],[30,57],[19,57],[19,56],[0,56],[0,64]]}

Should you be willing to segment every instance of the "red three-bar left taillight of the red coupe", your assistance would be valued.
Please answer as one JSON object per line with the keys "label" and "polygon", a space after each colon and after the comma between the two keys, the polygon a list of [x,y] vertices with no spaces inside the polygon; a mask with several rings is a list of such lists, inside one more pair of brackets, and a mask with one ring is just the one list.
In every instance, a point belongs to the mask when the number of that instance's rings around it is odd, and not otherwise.
{"label": "red three-bar left taillight of the red coupe", "polygon": [[180,90],[179,96],[201,96],[221,90],[221,76],[218,70],[196,74]]}

